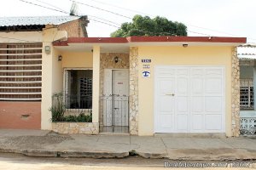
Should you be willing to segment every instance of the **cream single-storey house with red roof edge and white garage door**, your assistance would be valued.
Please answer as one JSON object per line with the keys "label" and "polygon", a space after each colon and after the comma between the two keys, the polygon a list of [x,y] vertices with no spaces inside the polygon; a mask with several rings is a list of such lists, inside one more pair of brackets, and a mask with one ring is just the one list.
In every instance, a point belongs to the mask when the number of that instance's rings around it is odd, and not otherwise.
{"label": "cream single-storey house with red roof edge and white garage door", "polygon": [[54,42],[43,69],[42,104],[48,105],[42,105],[42,129],[52,128],[51,94],[64,92],[68,111],[92,109],[96,132],[238,136],[236,47],[245,42],[243,37],[70,37]]}

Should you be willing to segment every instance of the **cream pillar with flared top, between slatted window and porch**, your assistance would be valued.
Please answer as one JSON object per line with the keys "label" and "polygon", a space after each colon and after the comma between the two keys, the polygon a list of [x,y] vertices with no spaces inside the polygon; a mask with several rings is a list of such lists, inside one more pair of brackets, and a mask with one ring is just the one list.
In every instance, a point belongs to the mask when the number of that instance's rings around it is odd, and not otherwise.
{"label": "cream pillar with flared top, between slatted window and porch", "polygon": [[[67,37],[66,31],[58,31],[56,28],[49,28],[43,31],[42,50],[42,103],[41,103],[41,128],[51,129],[52,94],[62,91],[62,68],[61,61],[58,61],[60,52],[56,50],[52,43],[55,40]],[[44,47],[49,46],[50,54],[46,54]]]}

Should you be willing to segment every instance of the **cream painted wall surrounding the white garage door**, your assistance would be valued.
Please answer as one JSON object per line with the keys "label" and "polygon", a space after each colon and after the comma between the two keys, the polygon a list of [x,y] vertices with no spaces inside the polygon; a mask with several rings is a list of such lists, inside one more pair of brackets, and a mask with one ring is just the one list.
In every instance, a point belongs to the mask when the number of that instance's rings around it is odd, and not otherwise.
{"label": "cream painted wall surrounding the white garage door", "polygon": [[[138,135],[154,134],[154,65],[223,65],[225,67],[225,128],[231,136],[231,47],[139,47]],[[141,59],[152,59],[150,78],[143,78]]]}

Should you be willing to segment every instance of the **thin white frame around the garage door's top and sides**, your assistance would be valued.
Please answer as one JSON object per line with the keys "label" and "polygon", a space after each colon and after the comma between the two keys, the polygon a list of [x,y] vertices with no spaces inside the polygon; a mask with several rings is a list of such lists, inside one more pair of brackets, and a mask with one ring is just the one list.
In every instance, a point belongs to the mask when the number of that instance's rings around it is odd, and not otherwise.
{"label": "thin white frame around the garage door's top and sides", "polygon": [[158,77],[158,72],[157,70],[160,69],[160,68],[170,68],[170,67],[208,67],[208,68],[222,68],[223,69],[223,74],[224,74],[224,84],[223,84],[223,88],[224,88],[224,107],[223,107],[223,130],[224,130],[224,133],[226,131],[226,73],[225,73],[225,65],[155,65],[154,66],[154,133],[158,133],[156,132],[156,118],[157,118],[157,111],[156,111],[156,105],[157,105],[157,100],[156,99],[156,96],[157,96],[157,91],[156,91],[156,86],[157,86],[157,81],[156,81],[156,77]]}

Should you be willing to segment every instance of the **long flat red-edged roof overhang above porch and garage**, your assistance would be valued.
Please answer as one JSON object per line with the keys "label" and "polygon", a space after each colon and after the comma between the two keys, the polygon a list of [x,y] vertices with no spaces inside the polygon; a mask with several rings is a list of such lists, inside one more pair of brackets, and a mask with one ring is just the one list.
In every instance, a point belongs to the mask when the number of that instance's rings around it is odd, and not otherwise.
{"label": "long flat red-edged roof overhang above porch and garage", "polygon": [[69,37],[67,41],[53,42],[63,51],[90,51],[93,46],[102,52],[129,53],[137,46],[239,46],[247,42],[246,37]]}

